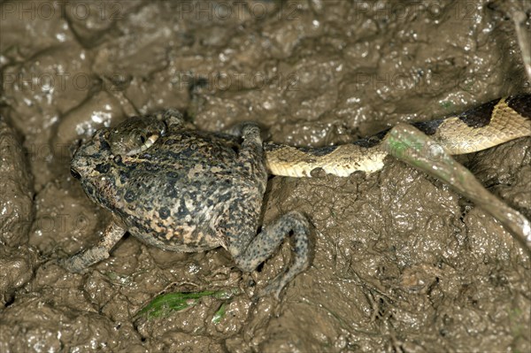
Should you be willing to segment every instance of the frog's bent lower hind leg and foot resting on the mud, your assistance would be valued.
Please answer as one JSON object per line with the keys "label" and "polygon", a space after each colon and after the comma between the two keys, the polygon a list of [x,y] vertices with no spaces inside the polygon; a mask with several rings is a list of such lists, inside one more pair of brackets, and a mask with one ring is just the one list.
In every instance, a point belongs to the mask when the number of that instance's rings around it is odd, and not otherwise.
{"label": "frog's bent lower hind leg and foot resting on the mud", "polygon": [[290,232],[293,232],[295,241],[293,260],[266,288],[258,292],[258,297],[273,293],[275,298],[279,299],[282,288],[308,267],[310,262],[310,225],[308,220],[296,211],[281,216],[273,224],[266,226],[250,242],[245,251],[235,257],[236,264],[243,271],[253,271],[259,264],[273,255],[273,252]]}

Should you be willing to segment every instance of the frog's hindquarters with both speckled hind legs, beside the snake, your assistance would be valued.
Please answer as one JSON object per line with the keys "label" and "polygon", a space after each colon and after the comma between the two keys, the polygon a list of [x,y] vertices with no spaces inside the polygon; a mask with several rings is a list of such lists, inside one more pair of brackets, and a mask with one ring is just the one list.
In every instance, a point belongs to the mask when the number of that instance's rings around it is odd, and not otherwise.
{"label": "frog's hindquarters with both speckled hind legs, beside the snake", "polygon": [[[255,270],[258,265],[271,257],[283,240],[293,232],[295,240],[294,258],[259,295],[274,293],[278,299],[281,289],[309,264],[308,220],[299,212],[289,212],[266,226],[256,234],[262,200],[266,190],[267,173],[264,150],[259,128],[252,124],[242,126],[242,149],[239,159],[243,169],[254,180],[256,189],[242,190],[242,203],[229,210],[230,220],[226,223],[227,249],[236,265],[245,272]],[[238,221],[240,224],[238,224]],[[241,222],[247,222],[242,225]]]}

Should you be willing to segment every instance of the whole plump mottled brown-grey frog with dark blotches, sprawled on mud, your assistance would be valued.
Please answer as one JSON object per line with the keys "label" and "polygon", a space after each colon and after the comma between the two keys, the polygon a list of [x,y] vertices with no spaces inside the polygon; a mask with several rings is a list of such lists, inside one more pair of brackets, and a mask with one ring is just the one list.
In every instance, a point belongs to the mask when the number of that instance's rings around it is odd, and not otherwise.
{"label": "whole plump mottled brown-grey frog with dark blotches, sprawled on mud", "polygon": [[256,123],[212,133],[173,109],[136,116],[97,130],[70,167],[89,199],[112,213],[96,246],[61,261],[71,272],[110,257],[126,233],[168,251],[221,247],[242,272],[256,270],[292,234],[290,263],[257,297],[279,299],[309,265],[304,214],[289,211],[259,230],[268,173]]}

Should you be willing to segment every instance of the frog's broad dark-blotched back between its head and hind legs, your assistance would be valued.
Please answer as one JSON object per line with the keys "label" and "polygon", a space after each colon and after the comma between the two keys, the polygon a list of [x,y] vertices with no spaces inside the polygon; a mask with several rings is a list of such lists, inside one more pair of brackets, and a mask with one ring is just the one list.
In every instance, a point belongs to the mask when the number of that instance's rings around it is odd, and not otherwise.
{"label": "frog's broad dark-blotched back between its head and hind legs", "polygon": [[223,246],[217,220],[242,202],[246,180],[237,166],[239,144],[224,135],[183,131],[161,137],[145,152],[122,157],[117,213],[129,232],[163,249]]}

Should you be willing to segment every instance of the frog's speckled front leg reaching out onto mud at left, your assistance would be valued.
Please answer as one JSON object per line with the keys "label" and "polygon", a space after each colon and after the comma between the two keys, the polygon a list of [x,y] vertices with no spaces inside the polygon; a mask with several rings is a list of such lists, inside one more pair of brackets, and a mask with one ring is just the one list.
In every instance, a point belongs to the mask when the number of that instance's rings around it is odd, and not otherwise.
{"label": "frog's speckled front leg reaching out onto mud at left", "polygon": [[105,228],[104,238],[94,248],[84,249],[73,257],[60,260],[59,264],[70,272],[82,272],[90,265],[108,258],[111,249],[125,233],[126,229],[112,220],[111,224]]}

